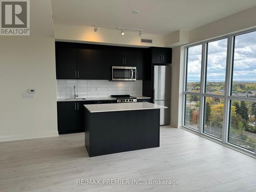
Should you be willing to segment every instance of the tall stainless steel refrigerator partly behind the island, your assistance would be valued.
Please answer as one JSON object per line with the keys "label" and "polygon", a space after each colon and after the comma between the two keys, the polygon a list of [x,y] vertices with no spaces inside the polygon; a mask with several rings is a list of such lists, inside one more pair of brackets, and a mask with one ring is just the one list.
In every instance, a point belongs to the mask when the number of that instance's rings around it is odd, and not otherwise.
{"label": "tall stainless steel refrigerator partly behind the island", "polygon": [[170,124],[171,69],[171,66],[154,66],[153,102],[168,107],[160,109],[160,125]]}

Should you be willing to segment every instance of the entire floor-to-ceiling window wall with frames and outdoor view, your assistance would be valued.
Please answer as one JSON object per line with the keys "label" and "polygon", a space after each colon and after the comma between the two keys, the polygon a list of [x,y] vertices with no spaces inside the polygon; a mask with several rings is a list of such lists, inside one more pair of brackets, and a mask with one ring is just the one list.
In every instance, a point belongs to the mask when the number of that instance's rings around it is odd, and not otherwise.
{"label": "entire floor-to-ceiling window wall with frames and outdoor view", "polygon": [[183,126],[255,154],[256,31],[185,49]]}

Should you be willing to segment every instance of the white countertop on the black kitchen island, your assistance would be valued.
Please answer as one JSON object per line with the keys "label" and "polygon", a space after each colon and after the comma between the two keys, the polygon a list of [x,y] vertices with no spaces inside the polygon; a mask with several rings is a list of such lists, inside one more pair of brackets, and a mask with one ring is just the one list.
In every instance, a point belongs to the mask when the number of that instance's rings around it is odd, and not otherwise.
{"label": "white countertop on the black kitchen island", "polygon": [[112,112],[112,111],[131,111],[131,110],[152,110],[164,109],[161,106],[150,102],[127,102],[127,103],[108,103],[108,104],[85,104],[84,107],[91,113]]}

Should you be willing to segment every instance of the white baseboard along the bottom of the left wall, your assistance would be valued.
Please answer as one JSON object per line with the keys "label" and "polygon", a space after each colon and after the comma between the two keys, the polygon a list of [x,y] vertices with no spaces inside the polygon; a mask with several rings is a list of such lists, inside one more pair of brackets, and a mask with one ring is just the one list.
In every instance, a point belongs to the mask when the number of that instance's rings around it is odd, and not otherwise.
{"label": "white baseboard along the bottom of the left wall", "polygon": [[4,141],[17,141],[17,140],[24,140],[24,139],[36,139],[36,138],[46,138],[46,137],[58,137],[58,131],[51,131],[51,132],[43,132],[39,134],[19,134],[19,135],[5,135],[0,136],[0,142]]}

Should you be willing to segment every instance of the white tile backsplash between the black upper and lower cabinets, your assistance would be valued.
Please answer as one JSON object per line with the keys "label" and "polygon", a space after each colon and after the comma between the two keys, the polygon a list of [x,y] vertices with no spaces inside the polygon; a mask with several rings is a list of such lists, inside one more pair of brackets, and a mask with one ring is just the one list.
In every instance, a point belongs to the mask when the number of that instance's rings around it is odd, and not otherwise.
{"label": "white tile backsplash between the black upper and lower cabinets", "polygon": [[74,86],[78,97],[109,97],[116,94],[142,95],[142,80],[57,80],[57,98],[73,98]]}

